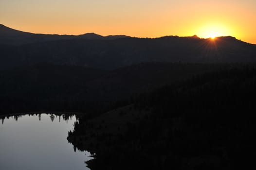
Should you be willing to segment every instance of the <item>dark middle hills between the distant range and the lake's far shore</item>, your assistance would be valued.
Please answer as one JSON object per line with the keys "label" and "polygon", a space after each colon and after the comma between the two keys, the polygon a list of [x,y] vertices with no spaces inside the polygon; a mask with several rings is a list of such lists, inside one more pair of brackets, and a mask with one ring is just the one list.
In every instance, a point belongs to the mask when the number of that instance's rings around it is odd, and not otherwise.
{"label": "dark middle hills between the distant range and the lake's far shore", "polygon": [[100,112],[196,74],[225,69],[226,64],[145,63],[103,71],[77,66],[37,64],[0,73],[0,113],[52,111]]}

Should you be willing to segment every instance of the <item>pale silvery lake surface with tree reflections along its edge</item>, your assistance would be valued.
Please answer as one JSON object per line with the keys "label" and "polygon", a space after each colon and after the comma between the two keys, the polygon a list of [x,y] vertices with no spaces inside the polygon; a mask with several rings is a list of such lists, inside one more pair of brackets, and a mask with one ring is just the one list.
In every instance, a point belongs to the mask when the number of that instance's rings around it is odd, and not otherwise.
{"label": "pale silvery lake surface with tree reflections along its edge", "polygon": [[75,116],[37,114],[1,121],[0,170],[90,170],[84,162],[91,154],[67,140]]}

